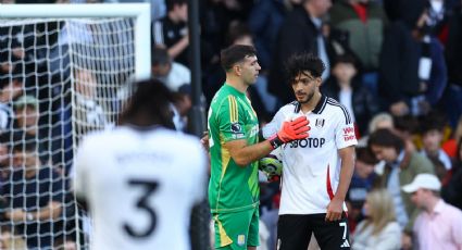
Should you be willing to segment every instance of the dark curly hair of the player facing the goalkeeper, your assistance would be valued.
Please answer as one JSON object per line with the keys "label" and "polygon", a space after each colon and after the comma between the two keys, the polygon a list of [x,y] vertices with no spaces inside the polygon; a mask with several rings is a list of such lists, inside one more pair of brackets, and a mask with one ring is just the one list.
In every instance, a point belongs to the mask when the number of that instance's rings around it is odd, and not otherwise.
{"label": "dark curly hair of the player facing the goalkeeper", "polygon": [[286,71],[289,83],[303,72],[309,72],[313,77],[321,77],[326,70],[323,61],[312,53],[292,54],[286,62]]}

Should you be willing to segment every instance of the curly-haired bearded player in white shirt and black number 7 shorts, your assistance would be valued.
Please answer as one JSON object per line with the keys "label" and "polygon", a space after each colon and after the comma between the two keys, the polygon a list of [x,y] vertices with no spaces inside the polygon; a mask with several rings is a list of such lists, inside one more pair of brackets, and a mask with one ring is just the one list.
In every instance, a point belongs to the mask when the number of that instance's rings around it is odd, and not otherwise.
{"label": "curly-haired bearded player in white shirt and black number 7 shorts", "polygon": [[354,167],[353,122],[344,105],[320,92],[325,66],[319,58],[296,54],[287,70],[297,101],[280,108],[263,136],[301,115],[311,130],[283,146],[278,249],[305,250],[312,233],[321,249],[349,249],[345,197]]}

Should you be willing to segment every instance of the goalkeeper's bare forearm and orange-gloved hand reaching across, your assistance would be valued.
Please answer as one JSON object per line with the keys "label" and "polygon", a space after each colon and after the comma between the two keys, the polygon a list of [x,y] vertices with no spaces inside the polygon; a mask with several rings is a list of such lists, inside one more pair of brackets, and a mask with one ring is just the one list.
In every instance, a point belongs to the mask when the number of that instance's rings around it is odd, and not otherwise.
{"label": "goalkeeper's bare forearm and orange-gloved hand reaching across", "polygon": [[230,140],[224,143],[229,155],[240,166],[248,164],[267,155],[275,148],[292,140],[303,139],[308,137],[309,122],[305,116],[298,117],[290,122],[284,122],[279,132],[269,139],[255,143],[247,145],[246,139]]}

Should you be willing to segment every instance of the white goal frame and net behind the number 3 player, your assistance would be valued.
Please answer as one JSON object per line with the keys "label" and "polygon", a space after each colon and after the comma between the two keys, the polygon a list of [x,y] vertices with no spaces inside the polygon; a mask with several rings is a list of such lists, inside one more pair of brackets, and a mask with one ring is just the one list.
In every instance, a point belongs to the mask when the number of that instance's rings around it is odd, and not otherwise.
{"label": "white goal frame and net behind the number 3 player", "polygon": [[128,83],[149,76],[149,5],[18,8],[0,13],[0,238],[86,248],[73,155],[85,134],[116,123]]}

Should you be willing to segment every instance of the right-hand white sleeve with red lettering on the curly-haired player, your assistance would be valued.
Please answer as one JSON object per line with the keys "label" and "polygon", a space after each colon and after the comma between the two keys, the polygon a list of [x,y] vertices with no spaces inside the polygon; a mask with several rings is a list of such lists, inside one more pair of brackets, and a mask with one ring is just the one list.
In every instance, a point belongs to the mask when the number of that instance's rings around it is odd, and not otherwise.
{"label": "right-hand white sleeve with red lettering on the curly-haired player", "polygon": [[350,113],[348,113],[348,110],[345,107],[339,107],[336,120],[335,143],[337,149],[358,145],[357,136],[354,135],[354,124],[351,120]]}

